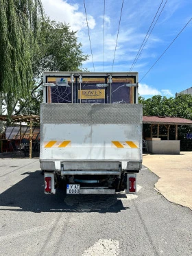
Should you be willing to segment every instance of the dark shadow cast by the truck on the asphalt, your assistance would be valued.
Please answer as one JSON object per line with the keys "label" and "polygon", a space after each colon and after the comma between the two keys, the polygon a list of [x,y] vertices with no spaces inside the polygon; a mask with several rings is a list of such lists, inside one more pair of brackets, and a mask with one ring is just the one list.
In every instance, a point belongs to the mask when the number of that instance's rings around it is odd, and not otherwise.
{"label": "dark shadow cast by the truck on the asphalt", "polygon": [[69,196],[60,189],[56,195],[45,195],[41,171],[21,175],[28,176],[0,195],[0,211],[117,213],[128,209],[120,200],[125,194]]}

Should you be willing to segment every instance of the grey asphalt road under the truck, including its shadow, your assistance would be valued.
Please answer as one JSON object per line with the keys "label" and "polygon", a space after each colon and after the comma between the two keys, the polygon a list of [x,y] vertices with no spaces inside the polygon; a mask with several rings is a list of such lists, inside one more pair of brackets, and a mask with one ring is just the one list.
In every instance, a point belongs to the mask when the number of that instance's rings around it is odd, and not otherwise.
{"label": "grey asphalt road under the truck, including its shadow", "polygon": [[38,159],[1,159],[1,256],[192,255],[192,212],[157,181],[143,167],[137,196],[47,196]]}

